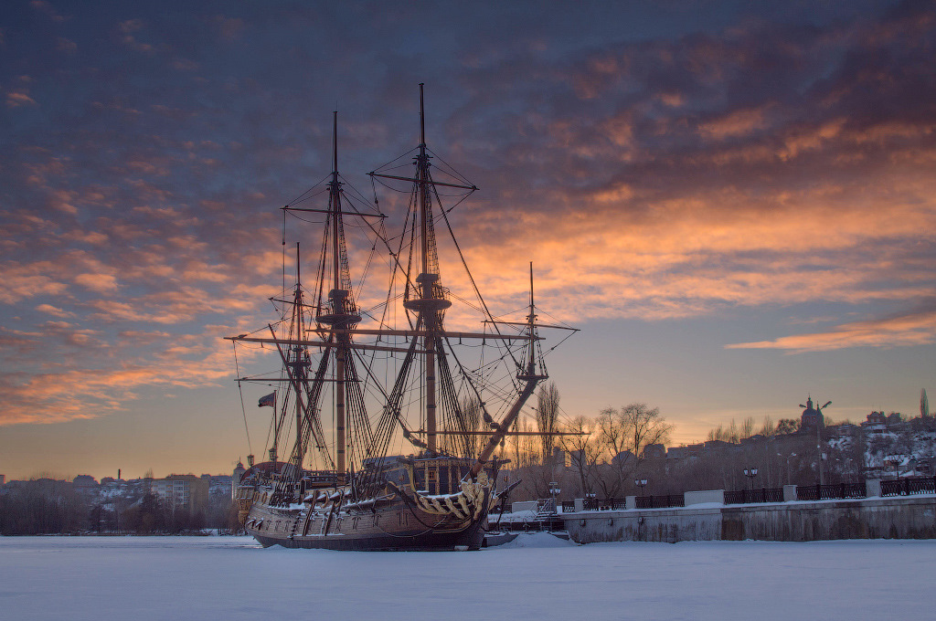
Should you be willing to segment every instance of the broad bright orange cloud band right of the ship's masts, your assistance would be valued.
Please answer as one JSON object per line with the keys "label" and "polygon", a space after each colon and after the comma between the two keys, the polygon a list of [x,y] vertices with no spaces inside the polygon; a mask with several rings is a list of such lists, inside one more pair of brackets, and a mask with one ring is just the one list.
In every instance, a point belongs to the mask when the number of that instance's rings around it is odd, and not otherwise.
{"label": "broad bright orange cloud band right of the ship's masts", "polygon": [[[918,181],[903,201],[865,187],[818,188],[768,197],[776,209],[753,209],[746,195],[724,191],[648,201],[640,213],[628,209],[639,195],[622,195],[613,209],[599,193],[591,203],[578,201],[577,210],[525,214],[517,223],[482,216],[462,247],[494,298],[522,299],[523,267],[533,260],[538,288],[566,292],[550,303],[579,321],[690,316],[725,305],[914,299],[929,296],[936,280],[926,256],[914,255],[924,232],[936,230],[930,192],[932,181]],[[465,295],[456,268],[445,264],[444,278]],[[541,299],[547,303],[548,293]]]}

